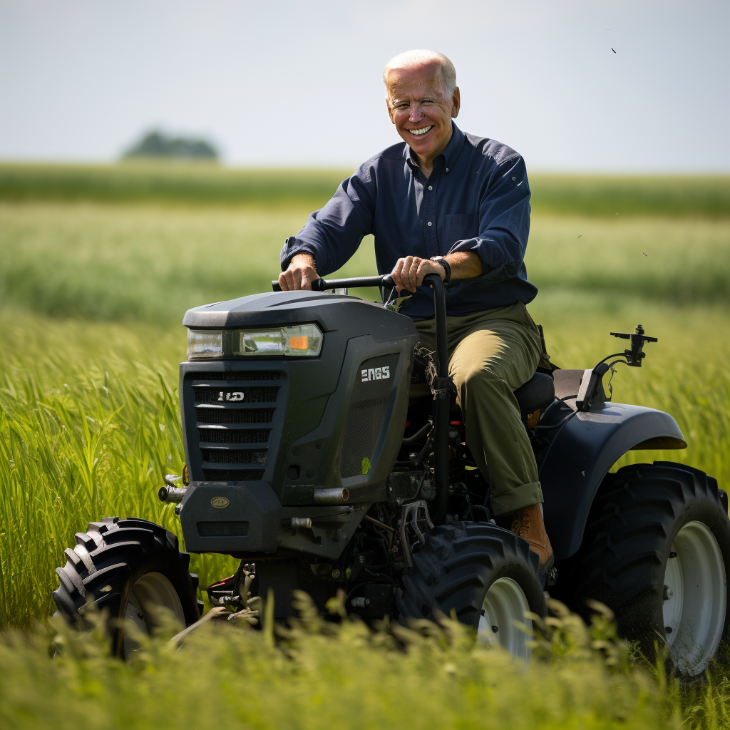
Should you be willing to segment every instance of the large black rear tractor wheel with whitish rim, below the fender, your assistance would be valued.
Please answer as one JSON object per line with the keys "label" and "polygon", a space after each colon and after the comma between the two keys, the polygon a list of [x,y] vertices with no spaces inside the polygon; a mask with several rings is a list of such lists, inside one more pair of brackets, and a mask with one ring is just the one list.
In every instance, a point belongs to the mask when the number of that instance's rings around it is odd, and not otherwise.
{"label": "large black rear tractor wheel with whitish rim, below the fender", "polygon": [[570,563],[561,598],[583,612],[585,599],[606,604],[650,661],[666,645],[683,680],[724,651],[730,520],[726,494],[704,472],[655,461],[608,475]]}

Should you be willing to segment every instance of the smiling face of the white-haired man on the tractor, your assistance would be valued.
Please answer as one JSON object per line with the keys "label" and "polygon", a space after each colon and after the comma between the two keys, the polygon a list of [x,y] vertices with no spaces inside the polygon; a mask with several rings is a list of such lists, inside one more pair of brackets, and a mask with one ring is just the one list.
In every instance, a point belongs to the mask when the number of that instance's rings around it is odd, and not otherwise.
{"label": "smiling face of the white-haired man on the tractor", "polygon": [[434,160],[451,138],[459,91],[447,96],[437,63],[388,73],[388,113],[398,134],[419,158]]}

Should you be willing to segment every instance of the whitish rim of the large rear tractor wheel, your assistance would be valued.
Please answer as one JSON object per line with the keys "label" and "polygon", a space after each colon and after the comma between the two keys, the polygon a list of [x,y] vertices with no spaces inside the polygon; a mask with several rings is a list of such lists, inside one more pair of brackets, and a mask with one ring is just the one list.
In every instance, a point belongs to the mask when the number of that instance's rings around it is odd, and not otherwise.
{"label": "whitish rim of the large rear tractor wheel", "polygon": [[698,675],[718,650],[727,607],[725,563],[704,523],[688,522],[672,542],[663,597],[669,653],[680,672]]}

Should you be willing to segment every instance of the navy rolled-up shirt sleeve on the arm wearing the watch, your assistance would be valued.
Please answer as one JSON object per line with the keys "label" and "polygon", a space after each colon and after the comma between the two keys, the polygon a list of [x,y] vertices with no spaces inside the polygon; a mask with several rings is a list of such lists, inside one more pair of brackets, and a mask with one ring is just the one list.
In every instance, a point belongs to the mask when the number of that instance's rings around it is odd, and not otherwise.
{"label": "navy rolled-up shirt sleeve on the arm wearing the watch", "polygon": [[473,251],[482,262],[475,280],[497,282],[518,275],[530,231],[530,188],[520,155],[496,166],[479,204],[479,234],[449,250]]}

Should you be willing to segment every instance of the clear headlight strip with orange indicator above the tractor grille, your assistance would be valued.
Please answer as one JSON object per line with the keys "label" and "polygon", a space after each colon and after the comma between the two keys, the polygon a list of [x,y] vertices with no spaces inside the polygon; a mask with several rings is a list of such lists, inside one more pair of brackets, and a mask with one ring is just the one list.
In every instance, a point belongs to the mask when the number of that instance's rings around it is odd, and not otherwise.
{"label": "clear headlight strip with orange indicator above the tractor grille", "polygon": [[265,330],[188,329],[188,360],[248,356],[316,357],[322,333],[315,324]]}

